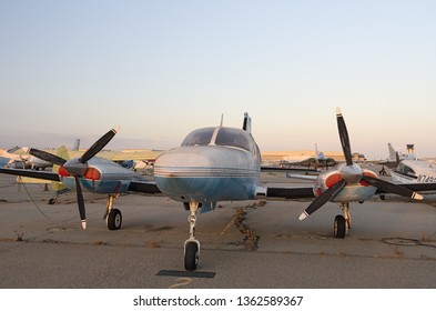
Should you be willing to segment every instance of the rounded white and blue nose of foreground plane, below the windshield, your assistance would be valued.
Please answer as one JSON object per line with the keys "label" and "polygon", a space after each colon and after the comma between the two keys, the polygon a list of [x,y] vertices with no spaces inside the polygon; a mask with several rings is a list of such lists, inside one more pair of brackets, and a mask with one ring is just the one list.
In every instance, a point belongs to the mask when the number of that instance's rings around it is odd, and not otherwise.
{"label": "rounded white and blue nose of foreground plane, below the windshield", "polygon": [[162,153],[154,163],[154,180],[176,201],[249,200],[258,172],[241,150],[220,147],[181,147]]}

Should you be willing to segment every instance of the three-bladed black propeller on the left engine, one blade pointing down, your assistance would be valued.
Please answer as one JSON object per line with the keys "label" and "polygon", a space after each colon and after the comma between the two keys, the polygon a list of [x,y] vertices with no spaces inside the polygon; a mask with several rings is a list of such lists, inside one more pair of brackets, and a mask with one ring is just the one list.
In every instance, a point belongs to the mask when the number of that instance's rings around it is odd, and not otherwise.
{"label": "three-bladed black propeller on the left engine, one blade pointing down", "polygon": [[87,214],[84,208],[84,199],[83,199],[83,191],[82,185],[80,183],[80,177],[84,175],[88,171],[88,161],[91,160],[97,153],[99,153],[111,140],[112,138],[119,132],[120,128],[113,128],[104,136],[102,136],[94,144],[92,144],[80,158],[71,159],[69,161],[49,153],[43,150],[38,150],[30,148],[27,151],[37,157],[41,160],[51,162],[53,164],[60,165],[63,170],[74,178],[75,181],[75,192],[78,199],[78,207],[79,207],[79,214],[80,220],[82,222],[82,228],[87,229]]}

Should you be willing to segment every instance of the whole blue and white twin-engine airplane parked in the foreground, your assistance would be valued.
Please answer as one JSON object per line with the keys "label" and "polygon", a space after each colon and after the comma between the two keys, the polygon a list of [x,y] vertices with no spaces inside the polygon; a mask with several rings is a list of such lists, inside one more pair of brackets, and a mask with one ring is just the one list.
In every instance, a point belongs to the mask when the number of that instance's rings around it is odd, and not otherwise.
{"label": "whole blue and white twin-engine airplane parked in the foreground", "polygon": [[[341,202],[349,219],[348,202],[364,201],[378,189],[414,199],[420,194],[376,178],[375,173],[362,170],[352,163],[348,134],[342,114],[337,116],[341,141],[346,156],[346,164],[320,175],[315,188],[277,188],[260,183],[261,153],[251,134],[251,119],[245,114],[243,129],[216,127],[203,128],[191,132],[182,146],[162,152],[154,164],[154,182],[144,180],[135,172],[121,165],[94,157],[115,136],[112,129],[100,138],[80,158],[71,160],[30,149],[29,153],[53,164],[60,165],[59,172],[0,169],[0,173],[27,175],[53,181],[77,190],[82,228],[87,228],[85,207],[82,189],[95,193],[108,193],[107,223],[110,230],[121,228],[122,215],[113,208],[120,193],[141,192],[162,193],[175,201],[183,202],[190,211],[190,238],[184,243],[184,267],[197,269],[200,242],[195,237],[196,213],[213,210],[217,201],[266,199],[313,198],[301,218],[305,218],[327,201]],[[436,185],[434,185],[436,189]],[[344,218],[342,218],[344,219]],[[345,235],[345,221],[336,220],[336,237]],[[349,227],[349,221],[348,221]]]}

